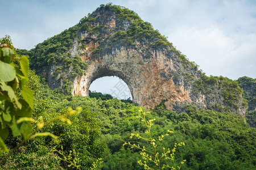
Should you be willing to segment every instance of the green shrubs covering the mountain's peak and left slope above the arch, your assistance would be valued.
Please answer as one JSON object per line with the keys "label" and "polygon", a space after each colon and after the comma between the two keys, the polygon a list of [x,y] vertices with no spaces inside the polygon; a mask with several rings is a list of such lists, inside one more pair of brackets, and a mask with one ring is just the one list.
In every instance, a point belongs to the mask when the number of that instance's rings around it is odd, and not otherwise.
{"label": "green shrubs covering the mountain's peak and left slope above the arch", "polygon": [[[105,15],[108,19],[113,18],[112,27],[112,20],[106,19]],[[138,46],[137,42],[141,45]],[[150,23],[144,22],[134,11],[111,3],[102,5],[75,26],[39,43],[34,49],[19,52],[30,56],[31,69],[44,76],[51,88],[61,87],[71,92],[67,87],[75,78],[85,74],[87,64],[81,58],[97,57],[112,51],[113,46],[122,45],[142,50],[145,57],[150,57],[142,44],[152,50],[169,46],[180,61],[188,61]]]}

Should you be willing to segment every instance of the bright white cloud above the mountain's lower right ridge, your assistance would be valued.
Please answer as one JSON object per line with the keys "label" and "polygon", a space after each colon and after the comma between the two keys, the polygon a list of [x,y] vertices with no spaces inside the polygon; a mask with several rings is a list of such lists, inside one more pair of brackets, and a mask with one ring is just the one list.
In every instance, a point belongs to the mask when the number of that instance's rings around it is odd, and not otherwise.
{"label": "bright white cloud above the mountain's lower right ridge", "polygon": [[255,76],[256,34],[228,36],[219,28],[179,28],[168,35],[189,60],[200,65],[207,75],[232,79]]}

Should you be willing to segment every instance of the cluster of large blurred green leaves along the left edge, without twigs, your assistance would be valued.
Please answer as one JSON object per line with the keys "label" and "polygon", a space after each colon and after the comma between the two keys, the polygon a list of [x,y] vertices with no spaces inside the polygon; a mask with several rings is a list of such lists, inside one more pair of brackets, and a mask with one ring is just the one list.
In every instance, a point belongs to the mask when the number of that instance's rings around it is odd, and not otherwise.
{"label": "cluster of large blurred green leaves along the left edge, without twigs", "polygon": [[[11,40],[5,41],[11,44]],[[1,45],[1,69],[0,69],[0,146],[3,151],[9,152],[4,141],[9,135],[9,129],[14,137],[22,134],[27,138],[31,133],[30,121],[18,120],[23,117],[31,118],[34,107],[34,94],[26,83],[28,82],[28,59],[25,56],[19,58],[19,66],[12,61],[15,57],[10,45]],[[12,62],[12,63],[11,63]],[[22,97],[16,96],[15,91],[19,88]],[[17,121],[17,122],[16,122]],[[0,150],[0,156],[3,152]]]}

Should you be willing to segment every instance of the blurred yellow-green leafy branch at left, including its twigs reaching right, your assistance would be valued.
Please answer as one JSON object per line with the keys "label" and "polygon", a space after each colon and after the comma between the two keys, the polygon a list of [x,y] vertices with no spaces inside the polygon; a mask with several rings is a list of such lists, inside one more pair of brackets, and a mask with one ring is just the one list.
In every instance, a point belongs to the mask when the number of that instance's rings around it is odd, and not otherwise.
{"label": "blurred yellow-green leafy branch at left, including its twigs reaching right", "polygon": [[[8,36],[1,39],[1,41],[10,42],[10,45],[2,44],[0,49],[0,156],[5,154],[1,163],[5,162],[15,150],[32,138],[49,136],[55,143],[60,143],[56,135],[49,132],[40,133],[39,131],[56,120],[71,124],[71,120],[67,117],[81,112],[80,107],[76,111],[69,108],[67,113],[47,122],[43,121],[43,117],[39,117],[39,120],[32,118],[34,93],[27,87],[29,80],[28,58],[26,56],[15,57],[15,51],[10,48],[11,41],[9,39]],[[17,95],[17,91],[20,92],[20,96]],[[32,124],[36,124],[35,129],[32,128]],[[12,150],[9,150],[5,144],[9,131],[13,133],[14,137],[20,134],[23,136],[23,141]]]}

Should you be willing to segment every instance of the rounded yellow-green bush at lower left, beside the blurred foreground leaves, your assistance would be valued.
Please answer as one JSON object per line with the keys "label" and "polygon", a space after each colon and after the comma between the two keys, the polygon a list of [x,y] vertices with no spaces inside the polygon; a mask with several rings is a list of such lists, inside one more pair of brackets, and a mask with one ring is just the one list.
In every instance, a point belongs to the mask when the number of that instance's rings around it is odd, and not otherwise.
{"label": "rounded yellow-green bush at lower left, beside the blurred foreground leaves", "polygon": [[[61,109],[59,112],[52,112],[43,117],[48,120],[58,114],[61,116],[67,112],[67,108]],[[67,168],[65,162],[69,163],[69,166],[81,169],[92,167],[93,163],[97,162],[97,159],[101,158],[106,150],[95,113],[90,112],[87,107],[83,107],[78,116],[71,116],[68,120],[63,117],[59,120],[59,122],[47,126],[44,131],[51,131],[53,134],[59,135],[60,145],[53,146],[53,143],[49,142],[47,138],[40,139],[40,145],[53,147],[52,151],[55,151],[59,155],[58,158],[64,161],[61,162],[61,165],[65,168]],[[63,124],[63,121],[68,124]]]}

